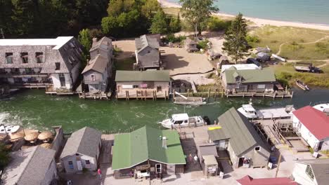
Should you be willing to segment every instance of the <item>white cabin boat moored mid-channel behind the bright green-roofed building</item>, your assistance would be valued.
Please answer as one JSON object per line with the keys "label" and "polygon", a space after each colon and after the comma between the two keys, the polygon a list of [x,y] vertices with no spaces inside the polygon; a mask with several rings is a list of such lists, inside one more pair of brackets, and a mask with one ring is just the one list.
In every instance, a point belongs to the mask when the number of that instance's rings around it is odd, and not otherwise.
{"label": "white cabin boat moored mid-channel behind the bright green-roofed building", "polygon": [[188,114],[173,114],[171,119],[161,121],[164,128],[183,128],[188,126],[202,126],[207,124],[201,116],[189,117]]}

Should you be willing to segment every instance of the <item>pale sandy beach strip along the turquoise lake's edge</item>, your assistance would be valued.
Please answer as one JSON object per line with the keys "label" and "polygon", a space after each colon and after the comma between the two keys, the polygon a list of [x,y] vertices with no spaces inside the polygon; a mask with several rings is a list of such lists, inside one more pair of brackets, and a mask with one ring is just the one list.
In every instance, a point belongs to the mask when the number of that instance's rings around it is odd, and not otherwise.
{"label": "pale sandy beach strip along the turquoise lake's edge", "polygon": [[[157,0],[157,1],[160,3],[160,6],[162,8],[181,8],[179,4],[172,3],[167,0]],[[231,15],[227,13],[213,13],[213,15],[228,17],[228,18],[236,17],[236,15]],[[318,25],[314,23],[304,23],[304,22],[289,22],[283,20],[268,20],[262,18],[250,18],[245,16],[243,17],[246,20],[250,20],[251,22],[254,22],[254,25],[256,25],[257,27],[262,27],[264,25],[272,25],[276,27],[302,27],[308,29],[320,29],[320,30],[329,31],[329,25]]]}

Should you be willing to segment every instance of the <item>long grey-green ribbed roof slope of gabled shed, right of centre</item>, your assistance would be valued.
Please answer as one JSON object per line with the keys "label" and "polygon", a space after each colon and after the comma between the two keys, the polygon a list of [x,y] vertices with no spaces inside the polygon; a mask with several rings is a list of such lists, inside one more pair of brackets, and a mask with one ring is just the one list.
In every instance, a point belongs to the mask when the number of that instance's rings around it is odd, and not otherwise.
{"label": "long grey-green ribbed roof slope of gabled shed, right of centre", "polygon": [[218,118],[221,129],[230,137],[229,142],[236,156],[240,156],[252,146],[262,146],[268,150],[262,138],[259,137],[252,123],[233,107]]}

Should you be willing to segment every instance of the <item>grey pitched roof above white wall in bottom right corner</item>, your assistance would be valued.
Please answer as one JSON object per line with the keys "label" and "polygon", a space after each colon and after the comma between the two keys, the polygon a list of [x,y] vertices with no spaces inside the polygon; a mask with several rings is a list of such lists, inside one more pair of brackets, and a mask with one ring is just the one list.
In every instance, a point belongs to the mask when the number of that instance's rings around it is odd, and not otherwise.
{"label": "grey pitched roof above white wall in bottom right corner", "polygon": [[311,165],[314,177],[318,184],[328,184],[329,181],[329,159],[318,158],[318,159],[303,159],[296,160],[296,163],[303,163]]}

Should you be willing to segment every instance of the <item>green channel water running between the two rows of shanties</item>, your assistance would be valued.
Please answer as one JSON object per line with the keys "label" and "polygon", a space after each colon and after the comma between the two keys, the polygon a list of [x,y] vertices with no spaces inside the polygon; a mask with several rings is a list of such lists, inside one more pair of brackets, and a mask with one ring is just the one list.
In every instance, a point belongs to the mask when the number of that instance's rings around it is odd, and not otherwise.
{"label": "green channel water running between the two rows of shanties", "polygon": [[[255,107],[281,107],[294,104],[303,107],[308,104],[329,102],[329,90],[317,89],[304,93],[295,90],[292,99],[273,101],[254,98]],[[215,118],[231,107],[240,107],[249,98],[212,98],[209,104],[200,107],[186,106],[190,116]],[[0,122],[22,125],[25,128],[49,129],[52,125],[63,125],[65,132],[72,132],[84,126],[127,132],[143,125],[158,127],[157,123],[171,114],[183,113],[184,107],[164,100],[80,100],[77,96],[45,95],[44,90],[24,90],[7,100],[0,101]]]}

